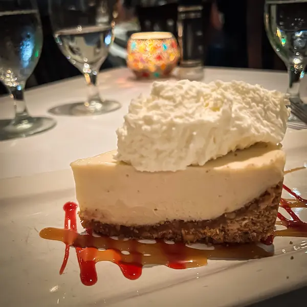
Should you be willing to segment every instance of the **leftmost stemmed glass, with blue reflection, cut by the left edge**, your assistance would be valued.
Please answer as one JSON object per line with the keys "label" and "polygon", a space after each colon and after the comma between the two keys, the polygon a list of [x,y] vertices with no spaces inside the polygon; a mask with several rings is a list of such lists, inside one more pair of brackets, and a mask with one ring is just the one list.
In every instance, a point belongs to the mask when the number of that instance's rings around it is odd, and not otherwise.
{"label": "leftmost stemmed glass, with blue reflection, cut by the left edge", "polygon": [[14,99],[15,118],[0,121],[0,140],[24,138],[55,126],[48,117],[31,117],[24,99],[25,84],[42,47],[35,0],[0,0],[0,80]]}

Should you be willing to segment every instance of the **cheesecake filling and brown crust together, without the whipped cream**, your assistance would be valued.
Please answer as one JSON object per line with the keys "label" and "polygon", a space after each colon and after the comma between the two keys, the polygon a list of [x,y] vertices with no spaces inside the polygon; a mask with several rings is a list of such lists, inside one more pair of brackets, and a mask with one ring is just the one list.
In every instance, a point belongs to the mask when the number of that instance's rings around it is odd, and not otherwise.
{"label": "cheesecake filling and brown crust together, without the whipped cream", "polygon": [[257,143],[178,171],[138,171],[116,151],[75,161],[79,216],[108,236],[247,243],[273,231],[285,157]]}

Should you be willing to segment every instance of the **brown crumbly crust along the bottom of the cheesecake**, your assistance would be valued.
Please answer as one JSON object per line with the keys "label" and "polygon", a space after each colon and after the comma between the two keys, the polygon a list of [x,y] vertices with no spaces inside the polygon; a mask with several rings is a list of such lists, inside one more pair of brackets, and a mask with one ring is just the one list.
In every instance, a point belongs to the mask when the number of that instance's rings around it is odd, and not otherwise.
{"label": "brown crumbly crust along the bottom of the cheesecake", "polygon": [[250,243],[265,240],[272,234],[282,191],[282,182],[269,188],[259,198],[243,208],[225,213],[214,220],[165,221],[155,225],[127,227],[85,220],[79,212],[82,226],[94,232],[135,239],[166,239],[193,243]]}

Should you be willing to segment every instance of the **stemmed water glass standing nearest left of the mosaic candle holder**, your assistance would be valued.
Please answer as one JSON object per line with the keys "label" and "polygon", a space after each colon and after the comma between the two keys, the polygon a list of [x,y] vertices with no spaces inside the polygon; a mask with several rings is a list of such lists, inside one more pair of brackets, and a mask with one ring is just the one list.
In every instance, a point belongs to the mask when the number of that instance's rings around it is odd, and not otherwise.
{"label": "stemmed water glass standing nearest left of the mosaic candle holder", "polygon": [[[113,41],[112,0],[49,0],[54,38],[63,55],[84,75],[87,99],[58,107],[56,113],[98,115],[120,108],[117,101],[100,98],[98,71]],[[64,111],[65,110],[65,111]]]}

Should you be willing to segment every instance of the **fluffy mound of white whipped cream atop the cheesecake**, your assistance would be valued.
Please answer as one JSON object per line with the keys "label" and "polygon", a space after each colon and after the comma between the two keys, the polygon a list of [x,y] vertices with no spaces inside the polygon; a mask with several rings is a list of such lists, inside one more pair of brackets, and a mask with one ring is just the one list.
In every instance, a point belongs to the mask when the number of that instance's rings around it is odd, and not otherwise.
{"label": "fluffy mound of white whipped cream atop the cheesecake", "polygon": [[140,171],[177,171],[286,133],[287,95],[242,81],[153,82],[117,130],[115,159]]}

